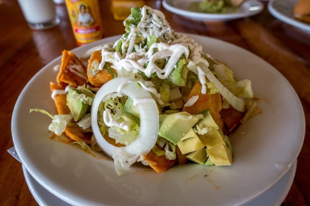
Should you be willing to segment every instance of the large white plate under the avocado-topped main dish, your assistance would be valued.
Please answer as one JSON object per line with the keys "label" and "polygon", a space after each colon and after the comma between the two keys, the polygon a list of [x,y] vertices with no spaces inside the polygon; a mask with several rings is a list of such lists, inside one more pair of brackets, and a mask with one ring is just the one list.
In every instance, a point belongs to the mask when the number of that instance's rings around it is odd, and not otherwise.
{"label": "large white plate under the avocado-topped main dish", "polygon": [[[262,114],[231,135],[232,166],[175,166],[157,174],[134,165],[117,176],[113,161],[97,159],[74,145],[48,138],[51,119],[30,108],[56,113],[49,81],[60,57],[40,70],[25,86],[12,115],[15,149],[29,173],[43,187],[74,206],[84,205],[242,205],[272,187],[290,169],[305,134],[302,105],[289,82],[254,54],[226,42],[188,35],[204,51],[224,61],[238,79],[250,79]],[[114,36],[73,49],[77,56]],[[240,135],[240,132],[245,134]]]}

